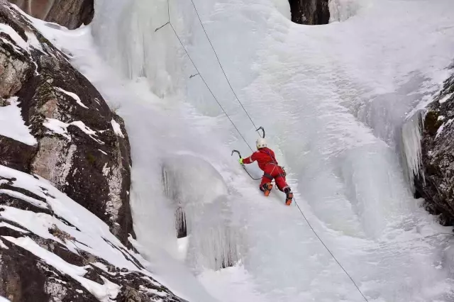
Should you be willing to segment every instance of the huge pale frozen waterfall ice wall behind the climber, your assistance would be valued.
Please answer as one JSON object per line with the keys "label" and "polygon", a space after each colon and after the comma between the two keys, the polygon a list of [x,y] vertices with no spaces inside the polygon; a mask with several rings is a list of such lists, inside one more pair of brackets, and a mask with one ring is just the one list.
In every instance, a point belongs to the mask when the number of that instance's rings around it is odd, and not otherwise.
{"label": "huge pale frozen waterfall ice wall behind the climber", "polygon": [[[199,72],[253,145],[192,2],[169,3]],[[399,152],[407,114],[448,75],[454,2],[331,0],[326,26],[291,23],[287,0],[194,4],[299,206],[367,300],[453,301],[453,239],[441,234],[450,229],[412,198]],[[135,231],[150,269],[189,301],[364,301],[298,208],[279,192],[262,197],[231,157],[250,150],[190,77],[172,28],[155,31],[166,22],[164,0],[97,0],[89,27],[39,25],[126,120]],[[187,246],[176,239],[178,208]],[[227,259],[236,266],[220,269]]]}

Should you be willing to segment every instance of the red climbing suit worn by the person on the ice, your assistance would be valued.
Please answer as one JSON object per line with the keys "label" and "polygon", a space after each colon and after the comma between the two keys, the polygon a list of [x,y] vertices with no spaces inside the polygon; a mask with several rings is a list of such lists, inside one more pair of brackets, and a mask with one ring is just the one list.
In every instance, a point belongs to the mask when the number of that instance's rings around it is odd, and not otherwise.
{"label": "red climbing suit worn by the person on the ice", "polygon": [[258,167],[265,172],[262,177],[262,182],[260,183],[260,189],[262,189],[264,184],[271,182],[272,179],[275,179],[277,188],[280,191],[284,191],[284,189],[288,187],[285,180],[284,169],[277,164],[275,152],[267,147],[260,148],[257,152],[254,152],[253,155],[245,158],[243,163],[252,164],[255,161],[258,162]]}

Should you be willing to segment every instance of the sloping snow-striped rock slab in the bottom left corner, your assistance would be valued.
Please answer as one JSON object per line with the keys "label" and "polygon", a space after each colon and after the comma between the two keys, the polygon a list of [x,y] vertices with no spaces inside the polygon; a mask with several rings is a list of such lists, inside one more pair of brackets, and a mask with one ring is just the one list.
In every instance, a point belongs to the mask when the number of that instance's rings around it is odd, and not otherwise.
{"label": "sloping snow-striped rock slab in the bottom left corner", "polygon": [[86,208],[1,165],[0,255],[0,296],[12,302],[183,301]]}

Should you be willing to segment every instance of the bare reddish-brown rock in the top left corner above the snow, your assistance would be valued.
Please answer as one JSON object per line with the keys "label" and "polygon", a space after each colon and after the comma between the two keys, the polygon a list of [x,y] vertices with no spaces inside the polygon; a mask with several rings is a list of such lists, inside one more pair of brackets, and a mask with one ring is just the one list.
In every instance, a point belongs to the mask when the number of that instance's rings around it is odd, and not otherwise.
{"label": "bare reddish-brown rock in the top left corner above the snow", "polygon": [[93,0],[9,0],[29,15],[69,29],[92,22]]}

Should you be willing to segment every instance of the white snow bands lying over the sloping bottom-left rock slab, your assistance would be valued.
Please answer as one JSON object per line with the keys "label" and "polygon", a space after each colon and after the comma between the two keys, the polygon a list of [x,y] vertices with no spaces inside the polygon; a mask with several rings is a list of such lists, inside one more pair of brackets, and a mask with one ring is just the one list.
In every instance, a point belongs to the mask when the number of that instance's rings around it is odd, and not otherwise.
{"label": "white snow bands lying over the sloping bottom-left rock slab", "polygon": [[[0,176],[6,179],[14,179],[12,180],[12,186],[25,189],[40,198],[43,198],[45,203],[47,203],[53,213],[55,213],[55,216],[52,216],[47,213],[35,213],[33,211],[26,211],[11,206],[1,206],[3,209],[3,211],[1,211],[2,218],[11,223],[16,223],[39,237],[44,239],[49,238],[56,242],[60,242],[71,252],[77,253],[77,250],[83,250],[95,257],[104,259],[104,261],[112,264],[114,267],[120,269],[126,268],[130,272],[140,272],[144,276],[153,278],[153,274],[143,267],[139,267],[132,257],[140,264],[147,264],[148,262],[140,255],[128,250],[120,240],[110,232],[109,225],[106,225],[101,219],[94,216],[93,213],[89,212],[66,194],[63,194],[56,189],[48,181],[38,176],[36,176],[38,179],[35,179],[32,175],[18,172],[17,170],[2,165],[0,165]],[[0,192],[0,194],[3,193]],[[57,217],[64,218],[70,224],[62,222]],[[52,235],[49,232],[49,228],[54,225],[61,230],[62,233],[67,233],[69,238],[72,237],[74,239],[61,240]],[[16,230],[16,227],[9,223],[3,223],[0,226]],[[15,245],[23,247],[40,259],[43,259],[44,262],[55,267],[55,269],[63,274],[71,276],[72,279],[84,286],[100,301],[111,301],[111,299],[116,298],[120,286],[102,276],[101,278],[103,279],[104,284],[99,284],[84,278],[84,275],[87,273],[87,269],[90,266],[79,267],[70,264],[61,257],[40,247],[40,245],[31,239],[31,237],[26,237],[27,233],[25,230],[20,230],[20,232],[23,233],[23,237],[14,238],[1,236],[0,248],[7,248],[2,240],[8,240]],[[95,262],[94,265],[106,270],[104,264]],[[157,285],[160,286],[161,284]]]}

